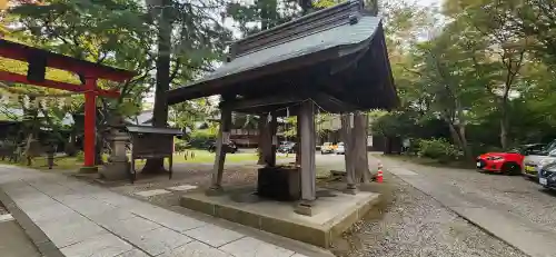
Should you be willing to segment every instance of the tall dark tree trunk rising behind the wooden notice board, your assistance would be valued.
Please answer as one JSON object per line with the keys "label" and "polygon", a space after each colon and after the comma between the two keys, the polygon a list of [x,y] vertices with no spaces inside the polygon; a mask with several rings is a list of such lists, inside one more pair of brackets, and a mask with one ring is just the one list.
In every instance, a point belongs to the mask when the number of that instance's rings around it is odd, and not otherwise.
{"label": "tall dark tree trunk rising behind the wooden notice board", "polygon": [[[169,6],[169,0],[162,1],[162,7]],[[167,93],[170,88],[170,45],[171,21],[170,10],[162,8],[158,21],[158,58],[157,58],[157,87],[155,92],[155,109],[152,110],[152,126],[166,127],[168,121]],[[163,159],[149,159],[143,172],[157,174],[165,171]]]}

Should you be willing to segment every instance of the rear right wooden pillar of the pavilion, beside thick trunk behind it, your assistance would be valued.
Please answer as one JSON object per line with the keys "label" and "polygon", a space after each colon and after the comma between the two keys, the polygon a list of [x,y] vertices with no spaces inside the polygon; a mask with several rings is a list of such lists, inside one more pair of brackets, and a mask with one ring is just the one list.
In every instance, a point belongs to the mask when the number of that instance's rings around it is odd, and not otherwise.
{"label": "rear right wooden pillar of the pavilion, beside thick trunk behind it", "polygon": [[347,189],[349,194],[357,192],[357,180],[355,177],[355,165],[354,165],[354,137],[353,137],[353,116],[351,113],[341,115],[341,137],[344,139],[344,160],[346,162],[346,180]]}

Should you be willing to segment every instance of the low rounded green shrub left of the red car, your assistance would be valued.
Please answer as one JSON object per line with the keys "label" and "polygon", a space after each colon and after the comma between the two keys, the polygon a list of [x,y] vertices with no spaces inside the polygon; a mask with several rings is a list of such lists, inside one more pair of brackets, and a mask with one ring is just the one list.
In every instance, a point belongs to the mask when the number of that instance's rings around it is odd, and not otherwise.
{"label": "low rounded green shrub left of the red car", "polygon": [[458,159],[463,156],[461,151],[449,144],[446,139],[424,139],[418,141],[419,145],[419,157],[428,157],[433,159],[438,159],[440,161],[448,161]]}

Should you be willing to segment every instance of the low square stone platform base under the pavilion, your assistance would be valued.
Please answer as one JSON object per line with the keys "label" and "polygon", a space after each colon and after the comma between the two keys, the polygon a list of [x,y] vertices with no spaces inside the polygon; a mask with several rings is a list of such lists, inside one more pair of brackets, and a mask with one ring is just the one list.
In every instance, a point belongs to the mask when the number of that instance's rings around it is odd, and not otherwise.
{"label": "low square stone platform base under the pavilion", "polygon": [[188,192],[180,199],[182,207],[224,218],[245,226],[277,234],[324,248],[334,237],[361,219],[380,197],[360,191],[347,195],[330,190],[334,197],[319,197],[311,207],[312,216],[294,211],[297,202],[274,201],[254,195],[255,187],[228,189],[221,196]]}

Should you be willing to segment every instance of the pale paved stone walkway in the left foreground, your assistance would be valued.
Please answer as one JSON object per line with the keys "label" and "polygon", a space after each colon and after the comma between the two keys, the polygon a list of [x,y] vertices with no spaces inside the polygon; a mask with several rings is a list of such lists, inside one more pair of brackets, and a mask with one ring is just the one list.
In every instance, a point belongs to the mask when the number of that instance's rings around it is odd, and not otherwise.
{"label": "pale paved stone walkway in the left foreground", "polygon": [[0,188],[67,257],[302,257],[62,175],[0,165]]}

